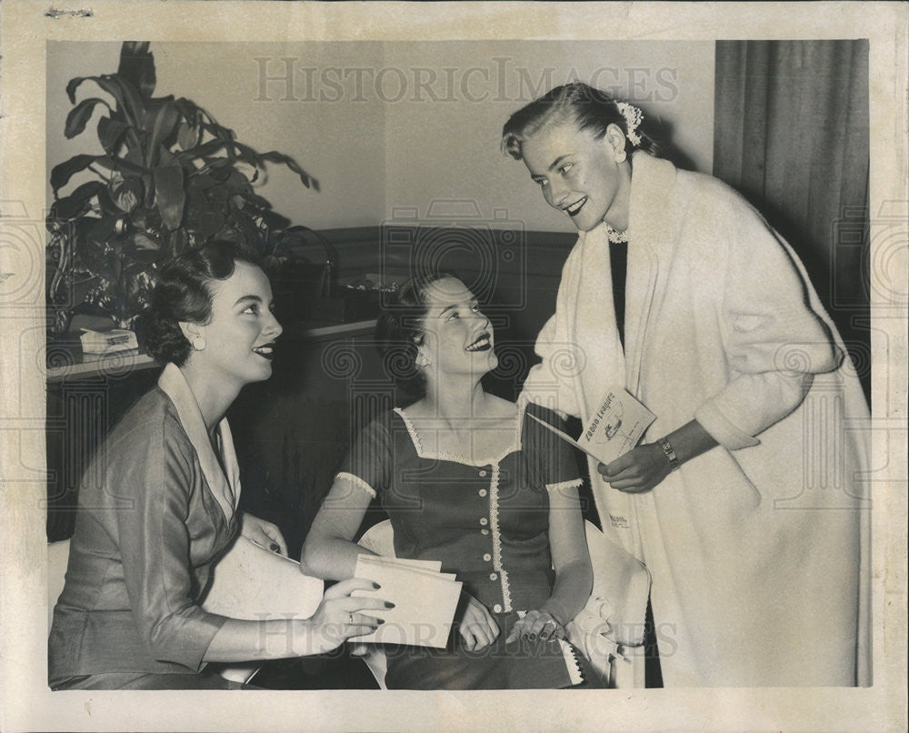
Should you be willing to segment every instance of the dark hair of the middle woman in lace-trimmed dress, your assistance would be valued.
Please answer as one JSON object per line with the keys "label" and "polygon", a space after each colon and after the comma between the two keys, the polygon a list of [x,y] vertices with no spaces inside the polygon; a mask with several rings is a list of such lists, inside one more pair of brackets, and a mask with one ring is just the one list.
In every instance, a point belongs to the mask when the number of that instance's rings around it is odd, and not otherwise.
{"label": "dark hair of the middle woman in lace-trimmed dress", "polygon": [[[400,286],[384,304],[375,325],[375,346],[382,355],[385,371],[408,396],[420,399],[426,391],[423,372],[416,366],[419,346],[425,333],[423,323],[429,307],[429,286],[454,277],[454,272],[438,270],[414,276]],[[463,282],[463,281],[462,281]]]}

